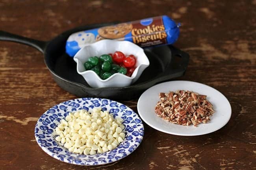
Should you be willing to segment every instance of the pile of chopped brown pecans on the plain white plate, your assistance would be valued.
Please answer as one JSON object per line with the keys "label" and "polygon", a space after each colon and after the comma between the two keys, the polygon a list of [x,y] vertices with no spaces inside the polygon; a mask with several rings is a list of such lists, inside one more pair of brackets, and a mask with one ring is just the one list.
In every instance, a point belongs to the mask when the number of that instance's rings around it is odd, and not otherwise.
{"label": "pile of chopped brown pecans on the plain white plate", "polygon": [[170,91],[160,93],[159,97],[160,101],[155,107],[156,114],[174,124],[197,126],[200,122],[210,121],[209,116],[214,113],[206,95],[199,95],[193,91]]}

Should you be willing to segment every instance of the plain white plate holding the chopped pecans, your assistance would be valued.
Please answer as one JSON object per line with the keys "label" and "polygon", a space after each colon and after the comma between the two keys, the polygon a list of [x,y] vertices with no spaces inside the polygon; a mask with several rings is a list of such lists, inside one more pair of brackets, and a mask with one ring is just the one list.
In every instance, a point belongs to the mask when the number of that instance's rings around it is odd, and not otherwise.
{"label": "plain white plate holding the chopped pecans", "polygon": [[[194,127],[193,124],[182,126],[167,122],[158,117],[154,112],[154,108],[156,103],[160,101],[159,93],[177,90],[189,90],[207,95],[207,99],[213,105],[213,110],[215,110],[215,113],[210,117],[210,122],[206,124],[200,123],[197,127]],[[191,81],[164,82],[149,88],[139,98],[137,109],[141,119],[152,128],[161,132],[182,136],[196,136],[214,132],[222,128],[231,117],[230,103],[222,93],[210,86]]]}

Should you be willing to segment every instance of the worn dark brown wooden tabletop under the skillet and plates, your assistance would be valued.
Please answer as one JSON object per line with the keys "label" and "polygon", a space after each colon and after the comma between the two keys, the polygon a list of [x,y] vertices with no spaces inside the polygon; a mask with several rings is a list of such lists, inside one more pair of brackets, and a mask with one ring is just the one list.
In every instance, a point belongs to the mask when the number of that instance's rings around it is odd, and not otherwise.
{"label": "worn dark brown wooden tabletop under the skillet and plates", "polygon": [[[0,0],[0,29],[39,40],[86,24],[169,15],[182,23],[175,46],[191,56],[177,80],[210,85],[232,106],[230,121],[217,132],[183,137],[144,123],[144,139],[128,157],[104,166],[70,165],[41,150],[34,127],[48,108],[76,96],[54,82],[42,53],[0,42],[0,170],[256,169],[255,9],[256,0]],[[120,102],[137,111],[137,99]]]}

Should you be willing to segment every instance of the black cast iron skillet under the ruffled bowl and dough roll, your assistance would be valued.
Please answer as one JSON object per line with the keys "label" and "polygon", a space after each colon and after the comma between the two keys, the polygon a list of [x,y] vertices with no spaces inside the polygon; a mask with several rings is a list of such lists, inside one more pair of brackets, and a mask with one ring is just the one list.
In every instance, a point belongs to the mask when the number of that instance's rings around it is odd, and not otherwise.
{"label": "black cast iron skillet under the ruffled bowl and dough roll", "polygon": [[[113,23],[110,23],[113,24]],[[189,62],[189,55],[173,46],[146,48],[150,66],[131,86],[124,88],[91,88],[76,72],[76,62],[65,53],[66,40],[70,34],[107,26],[95,24],[65,31],[54,39],[44,42],[0,31],[0,40],[14,41],[32,46],[45,55],[45,64],[56,83],[78,97],[101,97],[113,100],[129,100],[138,97],[144,90],[156,83],[182,76]]]}

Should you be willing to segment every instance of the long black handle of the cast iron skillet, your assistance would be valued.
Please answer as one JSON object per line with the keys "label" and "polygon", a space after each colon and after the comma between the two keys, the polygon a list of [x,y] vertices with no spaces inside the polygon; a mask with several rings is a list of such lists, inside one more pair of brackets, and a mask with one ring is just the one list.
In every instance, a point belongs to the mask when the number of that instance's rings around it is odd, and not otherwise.
{"label": "long black handle of the cast iron skillet", "polygon": [[42,53],[44,53],[47,42],[46,41],[40,41],[35,40],[32,38],[26,38],[22,37],[20,35],[15,35],[12,33],[8,33],[6,31],[0,31],[0,41],[13,41],[13,42],[19,42],[21,44],[26,44],[28,46],[32,46]]}

